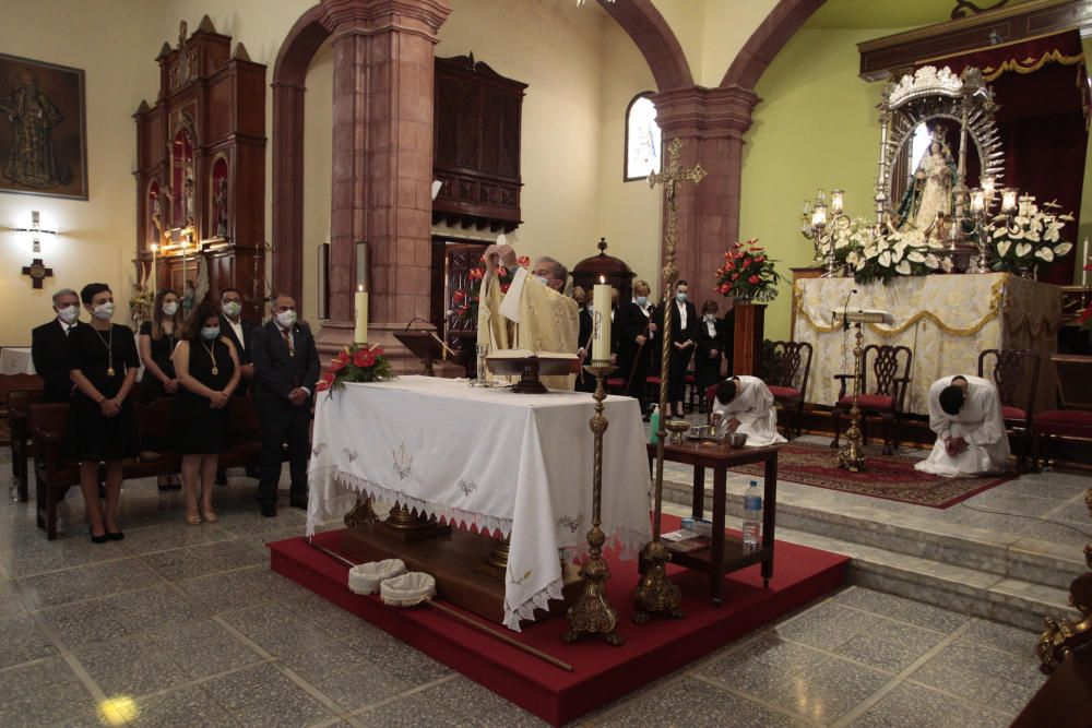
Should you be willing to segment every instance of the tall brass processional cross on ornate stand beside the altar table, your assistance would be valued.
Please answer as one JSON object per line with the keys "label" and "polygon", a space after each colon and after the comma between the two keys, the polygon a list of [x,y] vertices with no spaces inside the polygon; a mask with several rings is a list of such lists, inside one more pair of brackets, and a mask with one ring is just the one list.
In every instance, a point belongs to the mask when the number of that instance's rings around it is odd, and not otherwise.
{"label": "tall brass processional cross on ornate stand beside the altar table", "polygon": [[637,586],[633,595],[633,602],[637,613],[633,621],[642,624],[649,621],[652,613],[666,612],[675,618],[682,617],[679,602],[682,599],[679,587],[667,578],[665,564],[669,553],[667,548],[660,541],[661,516],[663,511],[664,497],[664,440],[667,438],[667,430],[664,413],[667,411],[667,373],[670,366],[670,341],[672,341],[672,288],[678,278],[678,270],[675,267],[675,243],[678,242],[678,229],[676,218],[678,216],[675,196],[680,182],[693,182],[698,184],[705,177],[705,170],[700,164],[696,164],[689,169],[684,169],[679,164],[679,152],[682,143],[678,138],[672,140],[667,147],[667,165],[661,172],[649,175],[649,187],[662,184],[664,195],[667,200],[667,229],[664,232],[664,287],[663,287],[663,312],[664,323],[661,343],[663,345],[663,356],[661,357],[660,369],[660,426],[656,431],[656,482],[655,482],[655,513],[652,522],[652,540],[644,547],[641,558],[644,560],[644,572],[641,582]]}

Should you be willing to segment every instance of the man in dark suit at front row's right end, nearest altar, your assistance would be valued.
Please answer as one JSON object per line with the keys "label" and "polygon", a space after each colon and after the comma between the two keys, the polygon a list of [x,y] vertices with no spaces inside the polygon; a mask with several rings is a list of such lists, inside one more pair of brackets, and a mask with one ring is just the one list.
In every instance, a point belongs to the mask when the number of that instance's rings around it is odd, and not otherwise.
{"label": "man in dark suit at front row's right end, nearest altar", "polygon": [[296,322],[296,301],[278,294],[273,317],[253,331],[250,358],[254,366],[254,409],[261,422],[261,478],[258,504],[263,516],[276,515],[281,480],[281,443],[288,443],[292,489],[288,502],[307,509],[308,429],[311,394],[319,379],[319,353],[305,324]]}

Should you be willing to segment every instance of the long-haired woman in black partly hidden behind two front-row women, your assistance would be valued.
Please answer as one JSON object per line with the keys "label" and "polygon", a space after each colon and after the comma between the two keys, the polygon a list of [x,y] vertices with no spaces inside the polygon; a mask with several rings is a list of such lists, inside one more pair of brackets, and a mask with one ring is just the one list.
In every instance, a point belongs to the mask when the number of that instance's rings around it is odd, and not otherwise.
{"label": "long-haired woman in black partly hidden behind two front-row women", "polygon": [[[144,375],[140,381],[141,404],[152,404],[159,397],[171,397],[178,389],[175,377],[175,365],[170,357],[175,353],[175,344],[182,335],[182,314],[178,310],[178,296],[169,288],[155,293],[152,301],[152,320],[140,326],[138,346],[140,358],[144,362]],[[170,443],[159,442],[158,438],[144,433],[142,449],[145,451],[169,450]],[[159,490],[177,489],[180,484],[178,476],[161,475]]]}

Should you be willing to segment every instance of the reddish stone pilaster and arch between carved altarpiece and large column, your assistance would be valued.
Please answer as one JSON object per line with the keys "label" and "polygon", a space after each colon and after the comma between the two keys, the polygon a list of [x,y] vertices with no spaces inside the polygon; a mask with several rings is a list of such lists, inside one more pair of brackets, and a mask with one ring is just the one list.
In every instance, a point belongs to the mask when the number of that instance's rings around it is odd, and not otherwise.
{"label": "reddish stone pilaster and arch between carved altarpiece and large column", "polygon": [[321,8],[288,31],[273,64],[273,290],[304,300],[304,94],[307,69],[330,37]]}

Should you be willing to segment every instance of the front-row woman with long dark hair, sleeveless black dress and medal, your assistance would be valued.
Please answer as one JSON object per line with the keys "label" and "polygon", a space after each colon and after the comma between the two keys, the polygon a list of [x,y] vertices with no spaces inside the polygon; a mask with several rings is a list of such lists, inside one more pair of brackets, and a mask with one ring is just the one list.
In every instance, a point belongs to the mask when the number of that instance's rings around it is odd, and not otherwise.
{"label": "front-row woman with long dark hair, sleeveless black dress and medal", "polygon": [[211,302],[199,303],[190,317],[175,350],[175,371],[181,386],[175,396],[170,431],[175,450],[182,455],[186,521],[199,526],[203,516],[216,523],[212,510],[216,462],[228,446],[227,404],[241,372],[239,355],[232,342],[221,336],[219,311]]}

